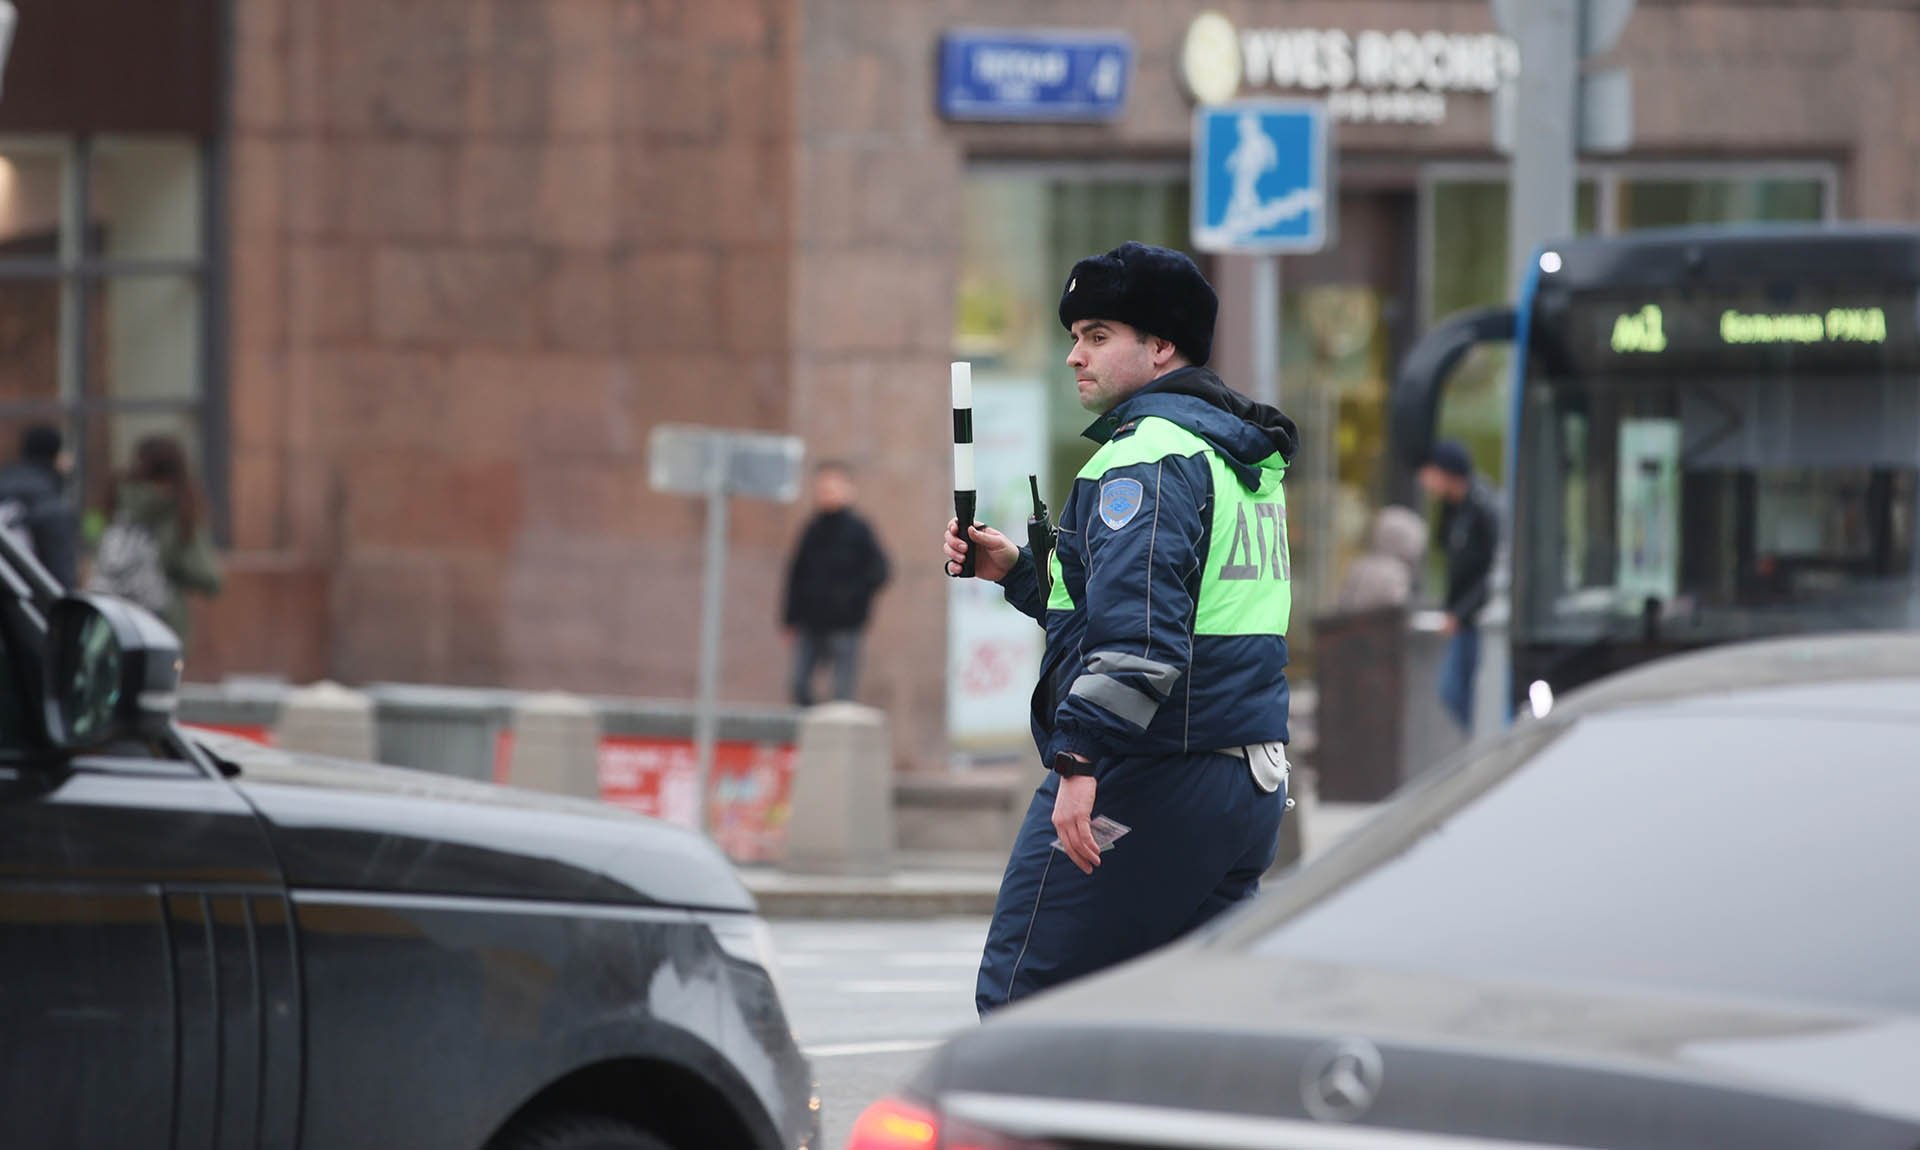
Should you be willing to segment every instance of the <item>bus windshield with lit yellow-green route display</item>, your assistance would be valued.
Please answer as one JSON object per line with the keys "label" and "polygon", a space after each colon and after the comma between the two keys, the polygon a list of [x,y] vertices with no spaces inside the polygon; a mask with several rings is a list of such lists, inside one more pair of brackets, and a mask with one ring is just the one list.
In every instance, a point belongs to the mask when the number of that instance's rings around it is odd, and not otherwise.
{"label": "bus windshield with lit yellow-green route display", "polygon": [[1916,321],[1912,286],[1542,296],[1515,639],[1920,624]]}

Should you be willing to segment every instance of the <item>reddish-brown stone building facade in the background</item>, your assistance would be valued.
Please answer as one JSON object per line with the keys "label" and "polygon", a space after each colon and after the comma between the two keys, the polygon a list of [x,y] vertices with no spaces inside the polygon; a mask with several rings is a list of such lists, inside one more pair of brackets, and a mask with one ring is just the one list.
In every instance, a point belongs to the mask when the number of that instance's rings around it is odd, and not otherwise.
{"label": "reddish-brown stone building facade in the background", "polygon": [[[86,6],[100,17],[88,31],[54,15]],[[812,459],[858,467],[897,572],[862,695],[891,712],[902,764],[945,762],[950,587],[935,539],[950,513],[947,363],[964,338],[998,340],[1008,363],[1060,371],[1064,344],[1046,344],[1052,299],[995,276],[1033,278],[1006,271],[1020,252],[1064,273],[1075,242],[1106,242],[1106,225],[1073,230],[1083,215],[1112,209],[1112,228],[1131,230],[1175,221],[1148,238],[1187,242],[1181,58],[1196,6],[165,6],[179,10],[173,23],[138,35],[186,48],[123,46],[69,67],[69,36],[123,35],[115,6],[21,0],[0,157],[54,148],[71,165],[100,152],[92,140],[154,132],[198,148],[205,213],[198,263],[180,275],[202,286],[205,340],[177,415],[223,509],[230,587],[198,620],[194,678],[691,695],[703,511],[649,488],[647,438],[701,422],[795,434]],[[1327,35],[1498,33],[1484,0],[1212,8],[1244,52],[1265,54],[1269,75],[1292,81],[1261,88],[1283,96],[1334,94],[1308,56],[1277,63],[1325,50]],[[67,31],[36,33],[48,25]],[[939,46],[973,27],[1123,33],[1133,67],[1121,115],[945,119]],[[1676,213],[1920,217],[1920,117],[1907,113],[1920,106],[1907,67],[1916,54],[1920,4],[1642,0],[1607,56],[1632,69],[1634,144],[1586,159],[1582,211],[1601,230]],[[157,115],[142,86],[177,86],[169,69],[182,67],[204,98]],[[84,96],[115,75],[119,98]],[[1448,92],[1444,104],[1438,123],[1340,123],[1340,244],[1286,261],[1286,330],[1304,338],[1288,342],[1283,380],[1327,369],[1311,361],[1315,332],[1338,344],[1352,328],[1357,347],[1323,384],[1283,382],[1327,459],[1302,474],[1319,511],[1296,524],[1309,536],[1296,555],[1329,557],[1323,586],[1338,576],[1356,507],[1386,497],[1379,405],[1392,363],[1432,315],[1498,290],[1503,253],[1484,250],[1503,244],[1494,102]],[[1411,102],[1380,109],[1427,117]],[[1002,202],[1052,207],[1046,219],[996,215]],[[29,230],[0,236],[0,259],[25,252],[12,244]],[[1244,378],[1250,265],[1206,267],[1223,294],[1219,363]],[[989,315],[979,330],[964,315],[975,288]],[[94,445],[92,491],[131,438],[113,413],[132,428],[156,403],[134,382],[138,344],[115,353],[106,338],[108,349],[83,355],[65,328],[44,336],[92,372],[50,369],[0,388],[0,419],[71,420]],[[1064,378],[1023,372],[1041,386]],[[1048,451],[1066,459],[1073,428],[1058,397],[1044,403]],[[801,516],[733,507],[732,701],[783,699],[776,605]]]}

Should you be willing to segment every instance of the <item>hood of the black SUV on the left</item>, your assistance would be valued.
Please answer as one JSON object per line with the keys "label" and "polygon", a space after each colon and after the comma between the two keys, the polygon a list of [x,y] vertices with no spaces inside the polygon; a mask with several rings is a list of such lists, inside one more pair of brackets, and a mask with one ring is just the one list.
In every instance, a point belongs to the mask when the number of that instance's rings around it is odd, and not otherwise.
{"label": "hood of the black SUV on the left", "polygon": [[710,841],[605,803],[190,737],[238,768],[296,889],[755,908]]}

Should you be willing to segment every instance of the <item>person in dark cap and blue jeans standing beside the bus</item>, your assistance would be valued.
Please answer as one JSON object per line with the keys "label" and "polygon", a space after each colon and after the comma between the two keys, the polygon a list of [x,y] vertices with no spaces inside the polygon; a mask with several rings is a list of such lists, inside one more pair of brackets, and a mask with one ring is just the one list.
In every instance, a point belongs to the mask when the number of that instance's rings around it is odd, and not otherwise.
{"label": "person in dark cap and blue jeans standing beside the bus", "polygon": [[1465,731],[1473,731],[1473,678],[1480,670],[1480,609],[1494,589],[1500,547],[1500,509],[1494,491],[1473,474],[1459,443],[1434,445],[1421,468],[1421,488],[1440,501],[1440,545],[1446,547],[1446,624],[1440,662],[1440,703]]}

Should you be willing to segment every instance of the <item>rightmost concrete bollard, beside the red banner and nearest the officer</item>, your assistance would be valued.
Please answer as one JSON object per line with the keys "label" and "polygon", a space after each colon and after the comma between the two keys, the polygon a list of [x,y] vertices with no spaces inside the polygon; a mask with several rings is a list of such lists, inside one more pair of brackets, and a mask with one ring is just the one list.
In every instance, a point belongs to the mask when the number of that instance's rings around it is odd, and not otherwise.
{"label": "rightmost concrete bollard, beside the red banner and nearest the officer", "polygon": [[885,874],[893,866],[893,743],[887,716],[828,703],[801,716],[785,868]]}

